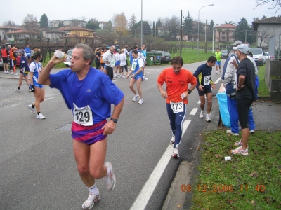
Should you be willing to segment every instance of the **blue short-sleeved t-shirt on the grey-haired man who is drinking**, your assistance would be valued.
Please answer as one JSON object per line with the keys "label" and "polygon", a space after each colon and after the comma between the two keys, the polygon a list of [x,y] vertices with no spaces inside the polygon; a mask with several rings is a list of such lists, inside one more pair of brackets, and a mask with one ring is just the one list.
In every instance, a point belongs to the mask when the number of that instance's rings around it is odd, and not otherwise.
{"label": "blue short-sleeved t-shirt on the grey-haired man who is drinking", "polygon": [[63,94],[68,109],[74,109],[74,104],[81,108],[90,106],[93,124],[109,118],[111,104],[118,105],[124,93],[112,83],[103,72],[90,67],[86,77],[79,81],[77,73],[70,69],[50,74],[51,88],[57,88]]}

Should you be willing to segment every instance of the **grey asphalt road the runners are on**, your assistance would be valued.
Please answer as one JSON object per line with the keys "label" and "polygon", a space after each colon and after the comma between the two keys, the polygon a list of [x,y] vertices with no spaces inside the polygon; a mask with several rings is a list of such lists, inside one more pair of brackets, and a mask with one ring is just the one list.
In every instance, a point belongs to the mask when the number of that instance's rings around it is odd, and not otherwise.
{"label": "grey asphalt road the runners are on", "polygon": [[[203,63],[183,67],[194,72]],[[129,80],[114,80],[126,98],[117,129],[107,141],[106,161],[112,162],[117,183],[109,193],[104,181],[97,181],[101,200],[93,209],[133,209],[133,203],[169,147],[169,119],[165,100],[156,85],[164,67],[146,67],[149,80],[142,83],[142,105],[131,101]],[[213,68],[212,79],[216,81],[219,76]],[[46,99],[41,103],[46,120],[37,120],[27,108],[34,100],[33,94],[27,92],[25,83],[21,92],[16,87],[18,80],[0,78],[0,209],[81,209],[88,190],[79,178],[72,153],[71,111],[60,92],[46,86]],[[199,118],[199,111],[190,114],[193,109],[200,109],[198,101],[195,90],[189,97],[186,115],[189,125],[179,147],[181,157],[169,158],[143,209],[161,209],[178,166],[183,160],[195,162],[200,133],[208,125]]]}

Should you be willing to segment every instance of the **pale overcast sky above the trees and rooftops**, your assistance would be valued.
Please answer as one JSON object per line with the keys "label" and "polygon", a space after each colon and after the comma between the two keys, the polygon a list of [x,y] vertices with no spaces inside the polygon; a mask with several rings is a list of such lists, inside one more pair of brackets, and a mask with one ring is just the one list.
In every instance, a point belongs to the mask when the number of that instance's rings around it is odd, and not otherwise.
{"label": "pale overcast sky above the trees and rooftops", "polygon": [[[4,0],[0,0],[4,1]],[[29,3],[27,3],[29,2]],[[247,2],[247,3],[246,3]],[[214,6],[206,6],[214,3]],[[39,21],[41,16],[45,13],[48,20],[72,20],[74,18],[96,18],[98,21],[108,21],[112,19],[114,14],[124,12],[129,22],[131,15],[136,16],[137,21],[141,20],[141,0],[45,0],[45,1],[22,1],[12,0],[6,1],[6,6],[1,9],[0,25],[11,20],[16,25],[22,25],[23,19],[27,14],[33,14]],[[198,11],[200,10],[200,21],[208,22],[214,20],[215,25],[221,25],[225,21],[232,21],[235,24],[240,22],[241,18],[246,18],[250,25],[253,18],[273,17],[270,14],[275,10],[271,3],[264,6],[258,6],[256,9],[256,0],[143,0],[143,20],[148,22],[157,21],[159,18],[171,18],[172,15],[183,16],[188,15],[188,11],[193,20],[198,19]],[[8,9],[11,8],[11,9]],[[281,10],[276,14],[280,15]]]}

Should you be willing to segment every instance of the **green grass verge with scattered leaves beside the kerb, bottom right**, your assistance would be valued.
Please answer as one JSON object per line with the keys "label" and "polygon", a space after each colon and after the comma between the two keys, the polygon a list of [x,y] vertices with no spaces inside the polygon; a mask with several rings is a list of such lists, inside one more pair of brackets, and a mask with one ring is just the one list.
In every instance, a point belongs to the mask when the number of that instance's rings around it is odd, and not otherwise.
{"label": "green grass verge with scattered leaves beside the kerb, bottom right", "polygon": [[[240,137],[204,133],[191,209],[280,209],[281,132],[255,132],[249,155],[230,155]],[[225,156],[232,156],[224,161]]]}

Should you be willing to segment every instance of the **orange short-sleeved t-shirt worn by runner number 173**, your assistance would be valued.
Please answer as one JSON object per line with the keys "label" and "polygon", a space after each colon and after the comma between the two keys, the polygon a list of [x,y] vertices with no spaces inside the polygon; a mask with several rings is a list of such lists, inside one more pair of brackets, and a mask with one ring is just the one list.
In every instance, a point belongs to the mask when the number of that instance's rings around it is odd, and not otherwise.
{"label": "orange short-sleeved t-shirt worn by runner number 173", "polygon": [[195,85],[197,83],[193,73],[186,69],[181,69],[179,73],[174,73],[173,68],[164,69],[157,78],[157,83],[163,85],[166,83],[166,92],[168,97],[166,103],[181,102],[188,104],[187,99],[181,99],[181,94],[188,90],[188,84]]}

